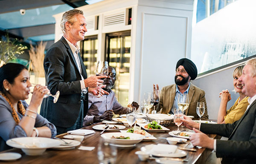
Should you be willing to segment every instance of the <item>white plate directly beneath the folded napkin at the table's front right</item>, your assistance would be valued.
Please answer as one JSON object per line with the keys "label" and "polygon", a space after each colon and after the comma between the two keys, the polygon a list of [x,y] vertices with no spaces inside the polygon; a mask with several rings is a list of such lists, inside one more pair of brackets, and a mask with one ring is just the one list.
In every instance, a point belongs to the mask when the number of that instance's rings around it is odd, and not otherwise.
{"label": "white plate directly beneath the folded napkin at the table's front right", "polygon": [[[140,148],[141,151],[145,151],[145,152],[148,152],[150,153],[151,155],[153,156],[158,156],[158,157],[172,157],[172,158],[181,158],[181,157],[184,157],[187,155],[187,152],[183,151],[183,150],[180,150],[180,149],[177,149],[175,153],[170,153],[170,154],[167,154],[167,153],[163,153],[163,154],[160,154],[160,153],[154,153],[152,150],[152,148],[154,147],[155,144],[149,144],[149,145],[146,145],[146,146],[143,146]],[[173,146],[173,145],[170,145],[170,146]]]}

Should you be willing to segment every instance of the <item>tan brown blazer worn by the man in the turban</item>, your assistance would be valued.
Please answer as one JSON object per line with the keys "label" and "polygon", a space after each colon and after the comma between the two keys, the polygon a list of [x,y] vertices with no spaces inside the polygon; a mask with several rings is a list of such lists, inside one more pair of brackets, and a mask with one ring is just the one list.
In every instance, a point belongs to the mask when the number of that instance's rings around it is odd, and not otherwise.
{"label": "tan brown blazer worn by the man in the turban", "polygon": [[[176,85],[168,85],[166,87],[163,87],[160,92],[160,102],[159,105],[156,106],[156,110],[159,111],[162,109],[161,113],[167,114],[170,113],[172,109],[172,105],[175,99],[175,93],[176,93]],[[187,116],[194,116],[195,120],[199,119],[199,116],[196,113],[196,106],[198,102],[204,102],[205,106],[205,112],[204,115],[201,117],[201,119],[208,119],[207,114],[207,104],[205,100],[205,92],[204,90],[201,90],[197,86],[193,85],[190,82],[189,87],[189,107],[185,110],[185,114]],[[154,110],[154,107],[151,108]]]}

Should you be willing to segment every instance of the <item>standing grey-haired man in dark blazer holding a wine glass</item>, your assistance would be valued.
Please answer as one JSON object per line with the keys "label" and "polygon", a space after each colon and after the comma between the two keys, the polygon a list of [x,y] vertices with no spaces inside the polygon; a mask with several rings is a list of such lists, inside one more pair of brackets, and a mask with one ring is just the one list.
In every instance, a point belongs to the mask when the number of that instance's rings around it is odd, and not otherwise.
{"label": "standing grey-haired man in dark blazer holding a wine glass", "polygon": [[44,58],[46,85],[52,94],[59,90],[60,96],[56,103],[53,103],[52,97],[44,99],[40,111],[42,116],[55,124],[58,134],[82,127],[88,110],[87,91],[96,95],[96,89],[103,83],[101,78],[107,77],[87,78],[77,45],[77,42],[84,40],[87,32],[83,11],[73,9],[65,12],[61,30],[63,37],[49,48]]}

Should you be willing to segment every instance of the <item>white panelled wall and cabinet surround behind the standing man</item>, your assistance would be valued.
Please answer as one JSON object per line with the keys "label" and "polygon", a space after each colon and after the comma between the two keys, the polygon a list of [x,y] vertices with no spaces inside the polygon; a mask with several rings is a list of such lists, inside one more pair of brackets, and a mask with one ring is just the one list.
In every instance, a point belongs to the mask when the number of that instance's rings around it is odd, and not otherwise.
{"label": "white panelled wall and cabinet surround behind the standing man", "polygon": [[[126,19],[129,8],[131,25],[126,20],[106,25],[105,18],[111,15],[124,14]],[[190,58],[193,0],[104,0],[78,9],[84,11],[87,20],[86,37],[98,36],[97,60],[105,59],[106,34],[131,30],[128,102],[141,104],[153,83],[160,89],[173,84],[177,60]],[[58,26],[62,14],[53,16],[55,41],[62,36]]]}

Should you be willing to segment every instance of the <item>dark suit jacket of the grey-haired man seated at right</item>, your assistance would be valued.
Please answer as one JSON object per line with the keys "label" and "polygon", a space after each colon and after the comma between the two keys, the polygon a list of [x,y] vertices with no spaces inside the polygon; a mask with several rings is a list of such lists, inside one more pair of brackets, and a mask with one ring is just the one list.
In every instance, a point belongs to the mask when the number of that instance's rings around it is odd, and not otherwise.
{"label": "dark suit jacket of the grey-haired man seated at right", "polygon": [[224,164],[253,164],[256,160],[256,100],[233,124],[201,124],[204,133],[228,137],[216,141],[216,156]]}

